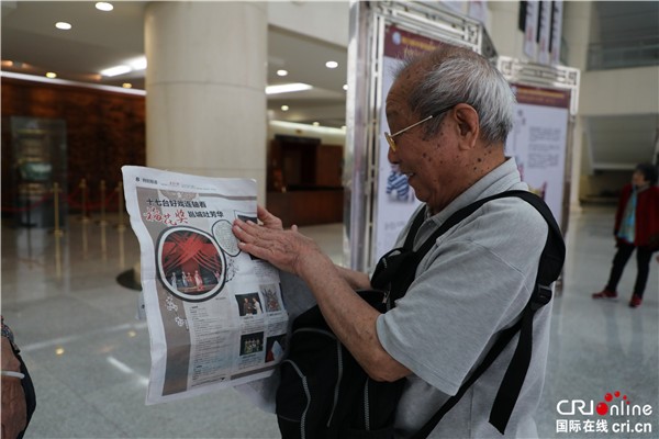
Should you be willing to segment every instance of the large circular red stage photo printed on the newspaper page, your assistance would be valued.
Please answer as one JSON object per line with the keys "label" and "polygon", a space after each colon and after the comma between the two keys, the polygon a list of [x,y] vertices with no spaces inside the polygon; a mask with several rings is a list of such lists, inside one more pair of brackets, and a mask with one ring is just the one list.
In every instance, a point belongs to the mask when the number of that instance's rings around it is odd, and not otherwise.
{"label": "large circular red stage photo printed on the newspaper page", "polygon": [[193,227],[169,227],[158,237],[156,269],[161,284],[187,302],[203,302],[222,291],[226,259],[211,235]]}

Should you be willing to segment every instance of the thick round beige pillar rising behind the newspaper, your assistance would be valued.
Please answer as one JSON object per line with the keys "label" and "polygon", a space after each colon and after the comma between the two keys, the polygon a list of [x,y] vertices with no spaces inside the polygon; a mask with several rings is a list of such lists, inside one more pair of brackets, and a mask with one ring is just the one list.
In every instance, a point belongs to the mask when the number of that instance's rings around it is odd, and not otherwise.
{"label": "thick round beige pillar rising behind the newspaper", "polygon": [[266,188],[267,8],[163,1],[145,13],[147,166]]}

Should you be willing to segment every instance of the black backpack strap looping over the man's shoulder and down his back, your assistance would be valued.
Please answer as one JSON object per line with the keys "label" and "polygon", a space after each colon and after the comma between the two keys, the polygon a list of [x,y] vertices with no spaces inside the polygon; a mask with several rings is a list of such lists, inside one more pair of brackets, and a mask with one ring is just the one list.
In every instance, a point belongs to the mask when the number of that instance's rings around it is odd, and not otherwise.
{"label": "black backpack strap looping over the man's shoulder and down his back", "polygon": [[[524,379],[530,362],[530,353],[533,348],[533,316],[537,309],[549,303],[551,300],[550,285],[560,274],[565,259],[565,243],[560,233],[560,228],[558,227],[551,211],[539,196],[530,192],[501,192],[492,196],[477,200],[474,203],[457,211],[442,224],[439,229],[435,232],[433,236],[438,237],[448,228],[471,215],[484,203],[505,196],[517,196],[532,204],[543,215],[549,227],[547,241],[545,243],[545,248],[540,255],[535,290],[532,293],[529,302],[522,312],[522,317],[517,320],[517,323],[510,328],[504,329],[500,334],[495,344],[492,346],[483,361],[473,371],[469,379],[465,381],[458,392],[451,396],[414,436],[412,436],[413,439],[426,438],[433,431],[433,429],[435,429],[444,415],[446,415],[458,403],[458,401],[460,401],[471,384],[473,384],[485,372],[485,370],[488,370],[488,368],[505,349],[507,344],[517,331],[521,331],[517,348],[515,349],[515,353],[513,354],[502,384],[499,387],[492,412],[490,413],[490,423],[501,434],[505,431],[505,427],[507,426],[512,410],[517,402],[517,397],[520,396],[520,391],[524,384]],[[435,244],[435,240],[436,237],[435,239],[431,237],[426,243],[424,243],[417,252],[427,252]]]}

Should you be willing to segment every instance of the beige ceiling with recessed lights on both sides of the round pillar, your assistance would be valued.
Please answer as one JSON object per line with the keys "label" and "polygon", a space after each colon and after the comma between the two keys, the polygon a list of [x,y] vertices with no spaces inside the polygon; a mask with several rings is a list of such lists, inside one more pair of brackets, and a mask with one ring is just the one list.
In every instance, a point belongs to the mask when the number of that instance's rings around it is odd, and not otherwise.
{"label": "beige ceiling with recessed lights on both sides of the round pillar", "polygon": [[[113,78],[99,72],[144,56],[147,2],[114,1],[111,12],[97,10],[94,3],[2,0],[2,70],[40,77],[54,71],[58,79],[118,87],[130,82],[134,89],[144,89],[144,70]],[[72,29],[56,29],[58,21],[70,23]],[[327,69],[327,60],[338,61],[338,67]],[[269,95],[269,117],[331,127],[345,125],[346,64],[346,47],[269,26],[268,85],[313,86],[308,91]],[[280,68],[289,71],[286,78],[277,76]],[[283,104],[289,111],[281,110]]]}

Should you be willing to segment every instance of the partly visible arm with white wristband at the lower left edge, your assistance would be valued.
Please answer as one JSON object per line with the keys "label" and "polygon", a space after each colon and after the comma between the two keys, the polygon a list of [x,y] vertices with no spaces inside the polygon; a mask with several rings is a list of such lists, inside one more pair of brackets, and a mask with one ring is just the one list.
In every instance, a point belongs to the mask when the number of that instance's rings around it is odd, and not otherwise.
{"label": "partly visible arm with white wristband at the lower left edge", "polygon": [[[7,337],[2,339],[2,370],[19,372],[21,363],[11,349]],[[25,429],[27,408],[21,380],[2,376],[2,439],[14,439]]]}

